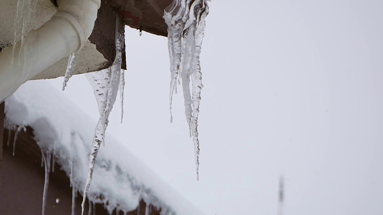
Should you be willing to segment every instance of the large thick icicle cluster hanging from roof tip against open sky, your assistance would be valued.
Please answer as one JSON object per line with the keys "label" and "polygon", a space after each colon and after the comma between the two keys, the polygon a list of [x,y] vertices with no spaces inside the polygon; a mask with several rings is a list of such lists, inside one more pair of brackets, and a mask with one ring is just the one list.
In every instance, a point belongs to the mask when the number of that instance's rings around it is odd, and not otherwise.
{"label": "large thick icicle cluster hanging from roof tip against open sky", "polygon": [[[165,9],[164,19],[168,25],[168,48],[170,58],[170,122],[172,122],[172,96],[177,93],[177,81],[182,79],[185,114],[190,137],[195,148],[196,173],[198,181],[197,121],[201,100],[201,44],[205,31],[205,18],[209,13],[207,0],[174,0]],[[191,89],[190,92],[190,79]]]}

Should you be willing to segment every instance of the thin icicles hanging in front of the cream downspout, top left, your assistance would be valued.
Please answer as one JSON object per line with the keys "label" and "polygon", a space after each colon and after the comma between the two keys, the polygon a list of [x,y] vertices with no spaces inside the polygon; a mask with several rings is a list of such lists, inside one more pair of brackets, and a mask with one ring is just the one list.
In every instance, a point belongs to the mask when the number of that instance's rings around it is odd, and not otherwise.
{"label": "thin icicles hanging in front of the cream downspout, top left", "polygon": [[18,0],[17,1],[17,7],[16,7],[16,18],[15,18],[15,39],[13,41],[13,53],[12,53],[12,64],[13,64],[13,56],[15,56],[15,48],[16,48],[16,42],[19,39],[18,32],[20,29],[20,21],[23,20],[23,28],[21,30],[21,48],[19,52],[19,56],[21,53],[21,49],[24,46],[25,43],[25,36],[28,33],[28,25],[29,20],[31,18],[31,13],[33,14],[36,9],[38,0]]}

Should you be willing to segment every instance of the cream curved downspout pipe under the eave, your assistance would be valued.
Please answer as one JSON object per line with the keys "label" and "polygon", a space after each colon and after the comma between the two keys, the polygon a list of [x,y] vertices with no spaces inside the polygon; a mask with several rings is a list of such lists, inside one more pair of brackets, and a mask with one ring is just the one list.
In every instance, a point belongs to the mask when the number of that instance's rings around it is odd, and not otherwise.
{"label": "cream curved downspout pipe under the eave", "polygon": [[93,31],[100,3],[100,0],[57,0],[57,13],[37,30],[29,31],[22,48],[19,41],[14,54],[13,47],[1,52],[0,103],[25,81],[82,49]]}

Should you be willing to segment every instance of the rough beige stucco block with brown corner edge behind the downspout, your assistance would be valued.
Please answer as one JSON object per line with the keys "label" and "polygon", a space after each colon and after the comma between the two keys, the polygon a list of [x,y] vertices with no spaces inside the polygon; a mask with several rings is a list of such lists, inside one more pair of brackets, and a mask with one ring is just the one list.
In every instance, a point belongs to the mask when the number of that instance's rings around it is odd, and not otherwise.
{"label": "rough beige stucco block with brown corner edge behind the downspout", "polygon": [[[13,44],[15,33],[14,21],[16,17],[17,2],[18,0],[0,0],[0,52],[2,50],[7,49]],[[54,1],[38,1],[38,4],[36,5],[36,13],[33,14],[29,22],[28,31],[31,29],[38,29],[41,25],[48,21],[56,12],[57,8],[54,5]],[[93,35],[93,39],[90,39],[91,41],[87,40],[85,42],[85,46],[83,47],[83,49],[80,52],[80,55],[78,56],[79,61],[76,64],[76,68],[73,72],[73,75],[94,72],[104,68],[108,68],[113,63],[113,60],[115,58],[116,54],[114,44],[114,33],[116,19],[110,19],[110,13],[113,14],[114,17],[115,13],[113,12],[113,10],[111,10],[111,8],[107,7],[105,3],[102,4],[102,8],[100,8],[98,12],[99,14],[101,13],[101,15],[96,20],[95,28],[101,29],[98,29],[98,31],[105,31],[102,28],[105,28],[105,26],[107,26],[109,23],[110,27],[108,28],[108,31],[110,29],[113,31],[104,33],[99,36]],[[103,24],[97,25],[97,23]],[[21,34],[21,26],[19,29],[19,35]],[[36,77],[34,77],[33,79],[57,78],[64,76],[68,63],[68,57],[64,57],[63,59],[59,60],[51,67],[36,75]],[[123,59],[125,59],[124,54]],[[123,68],[126,69],[125,64],[123,64]]]}

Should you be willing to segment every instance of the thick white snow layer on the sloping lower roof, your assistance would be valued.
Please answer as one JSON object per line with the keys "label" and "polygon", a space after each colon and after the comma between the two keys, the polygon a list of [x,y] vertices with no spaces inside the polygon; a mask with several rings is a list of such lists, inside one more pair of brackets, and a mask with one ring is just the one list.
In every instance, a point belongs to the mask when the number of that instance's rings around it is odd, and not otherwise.
{"label": "thick white snow layer on the sloping lower roof", "polygon": [[[54,153],[80,193],[87,179],[95,121],[45,81],[28,81],[5,100],[6,125],[30,126],[39,147]],[[161,214],[203,214],[142,164],[108,132],[100,149],[88,198],[128,212],[140,199]],[[17,156],[17,155],[16,155]],[[71,163],[72,173],[71,173]],[[71,175],[72,174],[72,175]],[[42,191],[43,192],[43,191]]]}

